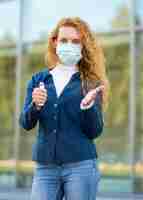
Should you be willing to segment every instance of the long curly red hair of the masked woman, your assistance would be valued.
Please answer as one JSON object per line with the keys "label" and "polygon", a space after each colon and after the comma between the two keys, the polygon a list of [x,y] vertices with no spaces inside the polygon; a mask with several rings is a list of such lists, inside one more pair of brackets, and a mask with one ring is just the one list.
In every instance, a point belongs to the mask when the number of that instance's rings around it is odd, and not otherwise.
{"label": "long curly red hair of the masked woman", "polygon": [[95,88],[97,86],[97,81],[104,84],[105,90],[103,92],[103,108],[107,108],[109,80],[107,79],[105,70],[103,48],[99,45],[95,33],[91,31],[89,25],[85,21],[79,17],[68,17],[62,18],[58,22],[48,37],[48,47],[45,56],[46,65],[49,69],[51,69],[54,68],[58,62],[54,39],[58,37],[59,29],[63,26],[71,26],[79,31],[83,46],[83,56],[77,66],[80,71],[81,80],[83,80],[82,83],[86,80],[88,90]]}

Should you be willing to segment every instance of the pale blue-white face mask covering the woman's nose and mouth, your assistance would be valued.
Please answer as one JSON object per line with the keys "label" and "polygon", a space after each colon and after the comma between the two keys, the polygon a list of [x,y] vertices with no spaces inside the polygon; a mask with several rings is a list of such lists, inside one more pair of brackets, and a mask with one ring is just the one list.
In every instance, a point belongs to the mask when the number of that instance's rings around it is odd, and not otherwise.
{"label": "pale blue-white face mask covering the woman's nose and mouth", "polygon": [[57,44],[56,54],[63,64],[76,65],[82,58],[81,45],[59,42]]}

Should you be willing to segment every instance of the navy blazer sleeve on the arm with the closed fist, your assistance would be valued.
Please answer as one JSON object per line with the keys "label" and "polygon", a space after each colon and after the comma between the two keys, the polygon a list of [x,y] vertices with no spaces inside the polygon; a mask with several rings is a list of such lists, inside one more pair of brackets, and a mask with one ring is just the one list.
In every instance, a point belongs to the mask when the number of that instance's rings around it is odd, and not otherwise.
{"label": "navy blazer sleeve on the arm with the closed fist", "polygon": [[32,102],[33,88],[34,77],[32,76],[32,79],[28,81],[24,106],[19,116],[19,124],[26,130],[34,128],[40,117],[40,110],[37,110],[35,103]]}

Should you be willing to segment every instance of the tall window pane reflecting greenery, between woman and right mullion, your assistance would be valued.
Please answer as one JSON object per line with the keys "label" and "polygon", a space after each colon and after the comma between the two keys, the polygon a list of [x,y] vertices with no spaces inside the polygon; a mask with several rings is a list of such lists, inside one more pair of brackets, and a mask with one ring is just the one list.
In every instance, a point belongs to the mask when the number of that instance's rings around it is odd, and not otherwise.
{"label": "tall window pane reflecting greenery, between woman and right mullion", "polygon": [[[111,98],[105,113],[103,134],[95,142],[103,178],[100,190],[131,192],[129,165],[129,35],[104,36]],[[112,185],[112,186],[111,186]]]}

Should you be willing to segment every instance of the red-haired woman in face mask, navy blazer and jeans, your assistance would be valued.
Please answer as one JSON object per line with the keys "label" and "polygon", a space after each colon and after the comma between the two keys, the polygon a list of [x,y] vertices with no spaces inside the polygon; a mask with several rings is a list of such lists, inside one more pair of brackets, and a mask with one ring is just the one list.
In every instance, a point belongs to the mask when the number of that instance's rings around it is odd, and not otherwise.
{"label": "red-haired woman in face mask, navy blazer and jeans", "polygon": [[89,25],[63,18],[48,38],[46,68],[28,82],[20,125],[39,123],[32,200],[95,200],[101,178],[93,139],[103,132],[109,83]]}

